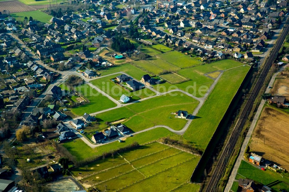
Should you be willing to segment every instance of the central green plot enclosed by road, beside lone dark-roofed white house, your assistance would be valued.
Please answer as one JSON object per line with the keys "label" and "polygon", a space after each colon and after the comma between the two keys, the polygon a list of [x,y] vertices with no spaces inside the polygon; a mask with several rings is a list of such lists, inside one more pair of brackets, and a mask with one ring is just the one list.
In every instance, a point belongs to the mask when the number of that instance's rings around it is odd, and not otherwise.
{"label": "central green plot enclosed by road, beside lone dark-roofed white house", "polygon": [[154,97],[139,103],[124,106],[97,115],[98,122],[104,123],[119,121],[133,131],[140,131],[154,125],[167,125],[175,130],[180,130],[186,124],[186,120],[175,118],[171,112],[186,110],[192,113],[199,104],[193,98],[175,92],[174,96],[163,95]]}

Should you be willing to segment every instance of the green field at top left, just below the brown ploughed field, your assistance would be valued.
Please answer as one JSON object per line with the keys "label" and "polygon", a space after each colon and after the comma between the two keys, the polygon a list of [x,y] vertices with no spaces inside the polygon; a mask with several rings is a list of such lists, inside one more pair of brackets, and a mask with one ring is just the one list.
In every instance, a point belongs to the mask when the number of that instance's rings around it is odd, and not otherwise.
{"label": "green field at top left, just below the brown ploughed field", "polygon": [[29,17],[32,16],[34,20],[37,20],[43,23],[47,23],[52,18],[52,16],[41,11],[19,12],[19,13],[10,14],[10,16],[14,17],[17,21],[23,21],[25,17],[29,19]]}

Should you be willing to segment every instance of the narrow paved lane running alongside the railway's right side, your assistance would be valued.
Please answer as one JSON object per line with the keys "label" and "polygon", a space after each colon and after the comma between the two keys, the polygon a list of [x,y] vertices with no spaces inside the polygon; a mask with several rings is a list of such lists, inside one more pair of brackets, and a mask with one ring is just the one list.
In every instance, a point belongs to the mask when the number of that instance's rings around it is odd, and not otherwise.
{"label": "narrow paved lane running alongside the railway's right side", "polygon": [[[288,65],[286,65],[286,66],[288,66]],[[279,69],[279,71],[277,71],[277,72],[272,76],[272,78],[271,78],[271,80],[270,80],[270,82],[269,82],[269,84],[268,84],[268,87],[269,87],[269,86],[270,86],[270,87],[273,86],[276,76],[277,76],[281,71],[283,71],[283,70],[286,68],[286,66],[284,66],[283,68]],[[270,88],[268,88],[268,87],[267,87],[265,93],[269,93]],[[249,143],[249,141],[250,141],[251,135],[252,135],[252,133],[253,133],[253,131],[254,131],[254,128],[255,128],[255,126],[256,126],[256,124],[257,124],[257,121],[258,121],[258,119],[259,119],[259,117],[260,117],[260,114],[261,114],[261,112],[262,112],[262,109],[263,109],[263,107],[264,107],[264,104],[265,104],[265,100],[262,99],[262,101],[261,101],[261,103],[260,103],[260,105],[259,105],[259,107],[258,107],[258,109],[257,109],[257,112],[256,112],[256,114],[255,114],[255,116],[254,116],[254,118],[253,118],[253,121],[252,121],[252,123],[251,123],[251,126],[250,126],[250,128],[249,128],[249,130],[248,130],[247,136],[246,136],[246,138],[245,138],[245,140],[244,140],[244,142],[243,142],[243,145],[242,145],[242,147],[241,147],[241,149],[240,149],[240,153],[239,153],[239,155],[238,155],[238,157],[237,157],[236,163],[235,163],[234,168],[233,168],[233,170],[232,170],[232,172],[231,172],[231,175],[230,175],[230,177],[229,177],[227,186],[226,186],[226,188],[225,188],[225,192],[231,191],[233,182],[235,181],[235,178],[236,178],[236,176],[237,176],[238,169],[239,169],[240,164],[241,164],[241,161],[242,161],[242,159],[243,159],[245,150],[246,150],[247,145],[248,145],[248,143]]]}

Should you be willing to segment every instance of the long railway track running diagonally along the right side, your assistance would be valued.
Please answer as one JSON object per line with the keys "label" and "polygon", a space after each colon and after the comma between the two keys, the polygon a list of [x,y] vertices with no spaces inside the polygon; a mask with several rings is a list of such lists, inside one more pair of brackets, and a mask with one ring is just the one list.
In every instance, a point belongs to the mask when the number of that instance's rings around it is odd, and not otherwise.
{"label": "long railway track running diagonally along the right side", "polygon": [[233,149],[236,145],[236,142],[238,140],[238,137],[240,135],[240,132],[248,118],[248,114],[251,111],[252,107],[253,107],[253,103],[255,101],[255,99],[257,98],[257,95],[259,94],[265,78],[268,74],[268,71],[271,68],[271,65],[273,64],[275,58],[277,57],[277,54],[284,42],[284,39],[286,37],[286,35],[288,34],[289,31],[289,20],[286,21],[286,23],[284,24],[283,27],[283,31],[282,33],[279,35],[279,38],[277,39],[275,46],[273,47],[273,50],[271,51],[269,58],[266,60],[264,67],[262,69],[262,71],[260,72],[260,76],[257,79],[256,84],[254,85],[252,92],[247,100],[247,102],[245,103],[245,106],[243,108],[243,110],[240,113],[240,117],[237,120],[237,123],[229,137],[229,139],[227,140],[227,142],[225,143],[223,150],[221,152],[220,158],[217,161],[217,165],[215,166],[214,170],[212,171],[212,174],[209,178],[209,180],[207,181],[206,185],[205,185],[205,189],[203,191],[205,192],[212,192],[212,191],[218,191],[218,183],[221,179],[221,176],[223,174],[223,171],[226,168],[227,162],[229,160],[229,157],[231,156]]}

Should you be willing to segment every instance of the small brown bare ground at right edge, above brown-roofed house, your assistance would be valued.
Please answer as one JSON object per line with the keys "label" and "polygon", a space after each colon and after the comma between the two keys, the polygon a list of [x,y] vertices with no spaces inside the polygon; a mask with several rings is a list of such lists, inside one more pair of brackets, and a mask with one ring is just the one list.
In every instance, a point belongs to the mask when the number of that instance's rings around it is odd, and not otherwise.
{"label": "small brown bare ground at right edge, above brown-roofed house", "polygon": [[289,99],[289,72],[281,72],[274,82],[274,86],[271,89],[271,94],[274,96],[283,96]]}

